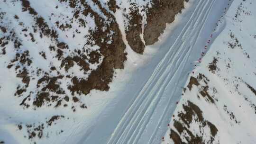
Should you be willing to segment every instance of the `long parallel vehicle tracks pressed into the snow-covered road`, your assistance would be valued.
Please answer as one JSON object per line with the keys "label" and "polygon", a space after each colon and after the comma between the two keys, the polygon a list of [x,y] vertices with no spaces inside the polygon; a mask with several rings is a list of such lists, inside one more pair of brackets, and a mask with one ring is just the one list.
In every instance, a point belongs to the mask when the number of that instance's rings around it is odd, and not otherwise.
{"label": "long parallel vehicle tracks pressed into the snow-covered road", "polygon": [[[189,56],[189,53],[186,53],[186,51],[188,50],[191,51],[192,49],[192,47],[188,47],[189,49],[183,49],[185,45],[184,42],[178,46],[176,46],[176,43],[179,42],[178,40],[180,40],[181,36],[187,35],[188,33],[192,35],[192,32],[190,32],[191,31],[190,28],[192,26],[191,23],[193,22],[194,24],[193,27],[195,28],[196,23],[198,23],[200,20],[199,18],[201,18],[203,10],[207,9],[209,1],[211,1],[211,4],[210,4],[210,7],[211,7],[213,4],[213,0],[203,0],[203,1],[201,0],[199,2],[200,4],[198,4],[196,9],[194,10],[192,17],[187,22],[186,26],[183,28],[182,33],[175,40],[174,45],[170,48],[168,53],[165,54],[165,57],[158,64],[158,66],[155,69],[155,72],[152,74],[151,78],[147,81],[145,87],[141,90],[137,99],[134,100],[134,102],[131,104],[131,107],[128,109],[126,114],[121,118],[121,121],[119,122],[119,125],[115,129],[114,133],[111,135],[108,144],[116,144],[116,143],[123,144],[127,142],[136,143],[138,141],[140,135],[142,134],[143,130],[146,127],[146,124],[151,118],[150,116],[152,116],[154,112],[154,108],[156,107],[156,104],[161,98],[163,92],[165,91],[166,85],[168,85],[168,82],[170,82],[170,80],[172,80],[174,75],[178,72],[179,67],[181,67],[181,63],[183,63],[183,67],[184,67],[184,63],[186,62]],[[202,9],[201,7],[203,6],[204,8]],[[200,12],[197,11],[198,9],[200,10]],[[207,13],[209,14],[209,11],[210,10],[208,9],[208,12],[204,14],[205,18],[207,17]],[[196,12],[196,16],[194,16],[195,12]],[[197,18],[196,22],[194,22],[194,17]],[[178,48],[178,52],[171,53],[177,48]],[[185,59],[183,57],[184,54],[186,55]],[[174,62],[174,60],[177,57],[179,57],[178,61],[180,61],[181,59],[183,59],[183,61],[181,63],[175,64],[174,67],[176,68],[178,66],[178,69],[176,69],[176,71],[173,72],[175,68],[173,69],[172,67],[173,67],[173,64],[176,62],[176,61]],[[171,61],[172,63],[170,63]],[[166,65],[168,67],[167,69],[165,69]],[[163,72],[164,75],[163,74],[160,75],[162,71],[165,71]],[[174,73],[174,74],[171,75],[170,73]],[[167,74],[167,79],[165,79],[166,74]],[[164,84],[165,87],[162,87],[163,86],[162,83],[165,83]],[[152,137],[150,141],[151,140],[152,140]]]}

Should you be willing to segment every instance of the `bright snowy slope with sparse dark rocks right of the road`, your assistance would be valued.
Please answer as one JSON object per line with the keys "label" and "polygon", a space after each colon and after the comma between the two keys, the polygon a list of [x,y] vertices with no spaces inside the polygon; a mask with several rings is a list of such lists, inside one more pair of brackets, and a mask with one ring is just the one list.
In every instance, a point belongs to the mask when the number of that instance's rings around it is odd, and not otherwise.
{"label": "bright snowy slope with sparse dark rocks right of the road", "polygon": [[255,6],[234,0],[216,22],[217,37],[189,74],[163,144],[256,144]]}

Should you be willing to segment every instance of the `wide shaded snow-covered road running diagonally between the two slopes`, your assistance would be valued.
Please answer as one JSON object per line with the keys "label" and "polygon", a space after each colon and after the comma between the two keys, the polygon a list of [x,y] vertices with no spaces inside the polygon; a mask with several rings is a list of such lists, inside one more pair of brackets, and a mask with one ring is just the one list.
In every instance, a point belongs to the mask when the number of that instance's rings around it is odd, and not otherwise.
{"label": "wide shaded snow-covered road running diagonally between the two slopes", "polygon": [[186,4],[188,9],[169,26],[172,28],[165,34],[167,37],[152,46],[159,48],[159,52],[134,72],[125,88],[119,90],[119,96],[82,134],[80,143],[160,143],[188,73],[201,53],[206,52],[205,45],[211,44],[208,40],[213,41],[225,26],[224,21],[218,27],[216,23],[229,3],[229,0],[190,0]]}

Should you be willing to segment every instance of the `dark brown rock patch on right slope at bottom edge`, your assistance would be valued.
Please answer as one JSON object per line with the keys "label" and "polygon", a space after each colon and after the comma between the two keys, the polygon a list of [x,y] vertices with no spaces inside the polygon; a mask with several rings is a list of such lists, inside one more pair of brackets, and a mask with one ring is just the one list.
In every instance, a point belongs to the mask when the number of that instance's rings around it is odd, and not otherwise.
{"label": "dark brown rock patch on right slope at bottom edge", "polygon": [[[187,104],[183,105],[183,111],[179,112],[178,117],[178,120],[174,120],[174,127],[179,134],[173,129],[170,133],[170,138],[173,139],[174,144],[212,144],[215,141],[218,129],[211,122],[204,119],[201,109],[191,101],[187,101]],[[200,129],[198,134],[190,130],[192,121],[198,123],[197,126]],[[210,138],[206,139],[206,142],[203,140],[204,128],[210,128]],[[183,142],[182,139],[186,139],[187,143]]]}

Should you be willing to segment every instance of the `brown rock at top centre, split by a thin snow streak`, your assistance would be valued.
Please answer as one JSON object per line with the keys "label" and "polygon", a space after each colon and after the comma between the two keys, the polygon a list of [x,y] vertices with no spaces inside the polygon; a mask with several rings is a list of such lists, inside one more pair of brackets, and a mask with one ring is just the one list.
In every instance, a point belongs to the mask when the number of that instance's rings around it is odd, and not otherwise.
{"label": "brown rock at top centre, split by a thin snow streak", "polygon": [[[145,45],[153,45],[164,32],[166,23],[172,23],[175,15],[184,8],[184,1],[188,0],[152,0],[152,8],[144,8],[146,14],[146,26],[144,26]],[[126,30],[126,39],[131,48],[138,54],[143,54],[145,45],[140,35],[142,34],[142,17],[138,8],[130,8],[129,25]]]}

